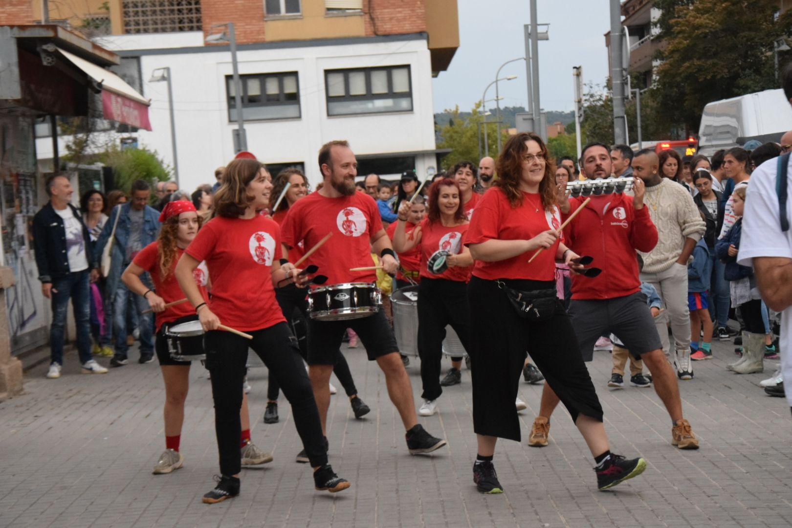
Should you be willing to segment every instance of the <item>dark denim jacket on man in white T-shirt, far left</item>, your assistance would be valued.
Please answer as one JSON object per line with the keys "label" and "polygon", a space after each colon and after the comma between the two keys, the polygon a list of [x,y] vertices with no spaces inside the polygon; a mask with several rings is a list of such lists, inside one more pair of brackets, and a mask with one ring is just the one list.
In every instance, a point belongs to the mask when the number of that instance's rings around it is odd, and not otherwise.
{"label": "dark denim jacket on man in white T-shirt, far left", "polygon": [[[98,259],[90,254],[91,241],[86,223],[77,207],[69,203],[74,218],[82,224],[82,237],[86,241],[86,256],[88,268],[98,268]],[[39,280],[42,283],[51,283],[53,279],[60,279],[70,273],[69,260],[66,257],[66,228],[63,218],[55,212],[55,207],[48,202],[33,217],[33,248],[36,251],[36,266],[39,268]]]}

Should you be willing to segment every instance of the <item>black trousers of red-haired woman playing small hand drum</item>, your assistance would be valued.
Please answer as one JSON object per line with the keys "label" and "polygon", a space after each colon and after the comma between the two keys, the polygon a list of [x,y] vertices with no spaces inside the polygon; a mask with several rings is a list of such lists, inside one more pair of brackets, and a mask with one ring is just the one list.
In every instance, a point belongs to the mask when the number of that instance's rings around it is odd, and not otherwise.
{"label": "black trousers of red-haired woman playing small hand drum", "polygon": [[[440,387],[440,359],[443,357],[445,327],[451,325],[465,351],[470,354],[470,313],[467,284],[448,279],[421,279],[418,285],[418,355],[425,400],[435,400]],[[461,360],[462,358],[455,360]]]}

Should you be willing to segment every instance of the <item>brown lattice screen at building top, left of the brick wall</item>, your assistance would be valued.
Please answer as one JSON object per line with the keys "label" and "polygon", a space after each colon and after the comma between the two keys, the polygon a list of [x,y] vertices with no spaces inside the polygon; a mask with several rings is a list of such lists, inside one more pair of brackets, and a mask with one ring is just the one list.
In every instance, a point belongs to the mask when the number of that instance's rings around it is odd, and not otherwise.
{"label": "brown lattice screen at building top, left of the brick wall", "polygon": [[203,31],[200,0],[121,0],[125,33]]}

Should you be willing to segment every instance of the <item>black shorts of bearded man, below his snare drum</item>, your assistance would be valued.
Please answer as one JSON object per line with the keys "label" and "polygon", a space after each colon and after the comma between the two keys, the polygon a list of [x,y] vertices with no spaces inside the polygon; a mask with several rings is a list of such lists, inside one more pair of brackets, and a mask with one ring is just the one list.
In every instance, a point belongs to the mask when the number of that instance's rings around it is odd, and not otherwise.
{"label": "black shorts of bearded man, below his snare drum", "polygon": [[366,348],[369,361],[398,352],[396,337],[385,312],[379,310],[368,317],[346,321],[308,320],[308,364],[335,365],[346,329],[355,331]]}

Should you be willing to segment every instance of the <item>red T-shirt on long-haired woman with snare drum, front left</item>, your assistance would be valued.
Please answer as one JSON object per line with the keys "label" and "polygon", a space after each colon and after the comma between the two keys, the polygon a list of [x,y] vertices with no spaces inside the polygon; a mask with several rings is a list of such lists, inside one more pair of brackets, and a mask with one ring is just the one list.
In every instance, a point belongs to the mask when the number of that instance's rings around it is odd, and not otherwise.
{"label": "red T-shirt on long-haired woman with snare drum, front left", "polygon": [[223,325],[260,330],[286,321],[272,287],[272,263],[283,255],[276,222],[261,215],[246,220],[218,216],[198,231],[185,251],[206,260],[209,309]]}

